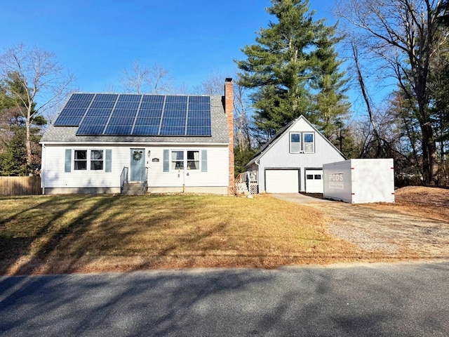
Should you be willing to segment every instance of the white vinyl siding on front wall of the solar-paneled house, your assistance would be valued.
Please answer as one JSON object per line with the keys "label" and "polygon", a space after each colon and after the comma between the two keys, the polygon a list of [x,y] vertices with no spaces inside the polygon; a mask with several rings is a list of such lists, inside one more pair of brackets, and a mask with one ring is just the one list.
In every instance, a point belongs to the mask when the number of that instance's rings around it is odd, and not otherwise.
{"label": "white vinyl siding on front wall of the solar-paneled house", "polygon": [[[58,146],[45,145],[45,166],[42,168],[45,187],[119,187],[120,174],[123,167],[130,167],[130,148],[133,145],[83,145],[83,146]],[[170,147],[170,146],[142,146],[145,154],[145,166],[148,167],[149,187],[227,187],[229,184],[229,159],[227,145],[216,146],[192,146],[192,147]],[[105,150],[102,170],[88,169],[76,171],[73,169],[74,150]],[[163,171],[163,150],[193,151],[199,153],[200,169],[181,170],[180,172]],[[66,153],[69,156],[69,165],[66,163]],[[90,161],[90,154],[88,154]],[[199,163],[198,163],[199,161]],[[66,165],[67,164],[67,165]],[[69,171],[67,171],[69,169]],[[187,174],[188,173],[188,174]]]}

